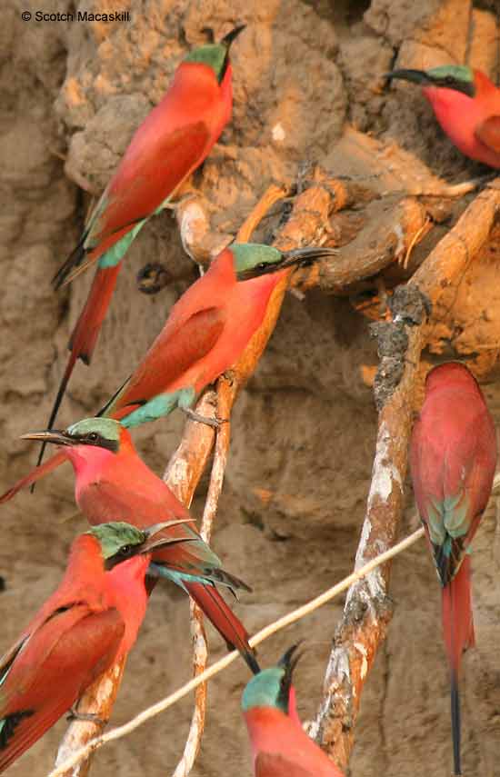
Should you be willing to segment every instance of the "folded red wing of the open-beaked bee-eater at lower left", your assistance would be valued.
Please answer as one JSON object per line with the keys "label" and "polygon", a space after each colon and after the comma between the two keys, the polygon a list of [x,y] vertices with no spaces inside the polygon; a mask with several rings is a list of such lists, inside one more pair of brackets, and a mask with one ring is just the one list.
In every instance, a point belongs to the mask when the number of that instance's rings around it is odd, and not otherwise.
{"label": "folded red wing of the open-beaked bee-eater at lower left", "polygon": [[0,772],[36,742],[111,665],[125,624],[115,609],[75,604],[25,640],[0,685]]}

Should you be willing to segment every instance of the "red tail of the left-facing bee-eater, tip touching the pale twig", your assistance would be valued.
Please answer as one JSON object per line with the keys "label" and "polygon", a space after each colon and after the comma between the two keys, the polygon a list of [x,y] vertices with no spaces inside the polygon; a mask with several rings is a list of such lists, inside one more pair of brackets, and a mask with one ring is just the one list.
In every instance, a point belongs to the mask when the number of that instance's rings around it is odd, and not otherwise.
{"label": "red tail of the left-facing bee-eater, tip touching the pale twig", "polygon": [[213,623],[218,633],[225,639],[228,648],[238,650],[250,670],[254,674],[258,674],[260,667],[255,658],[254,650],[248,644],[248,633],[245,626],[225,603],[215,586],[185,582],[185,588],[206,617]]}

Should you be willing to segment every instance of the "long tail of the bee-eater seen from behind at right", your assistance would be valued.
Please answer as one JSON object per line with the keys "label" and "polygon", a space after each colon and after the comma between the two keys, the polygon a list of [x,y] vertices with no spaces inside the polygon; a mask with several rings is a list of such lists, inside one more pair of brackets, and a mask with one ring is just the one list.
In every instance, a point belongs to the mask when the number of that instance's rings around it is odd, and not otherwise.
{"label": "long tail of the bee-eater seen from behind at right", "polygon": [[460,765],[460,700],[458,676],[462,653],[475,645],[471,596],[470,557],[465,555],[454,579],[443,589],[443,631],[450,662],[451,713],[455,774],[462,774]]}

